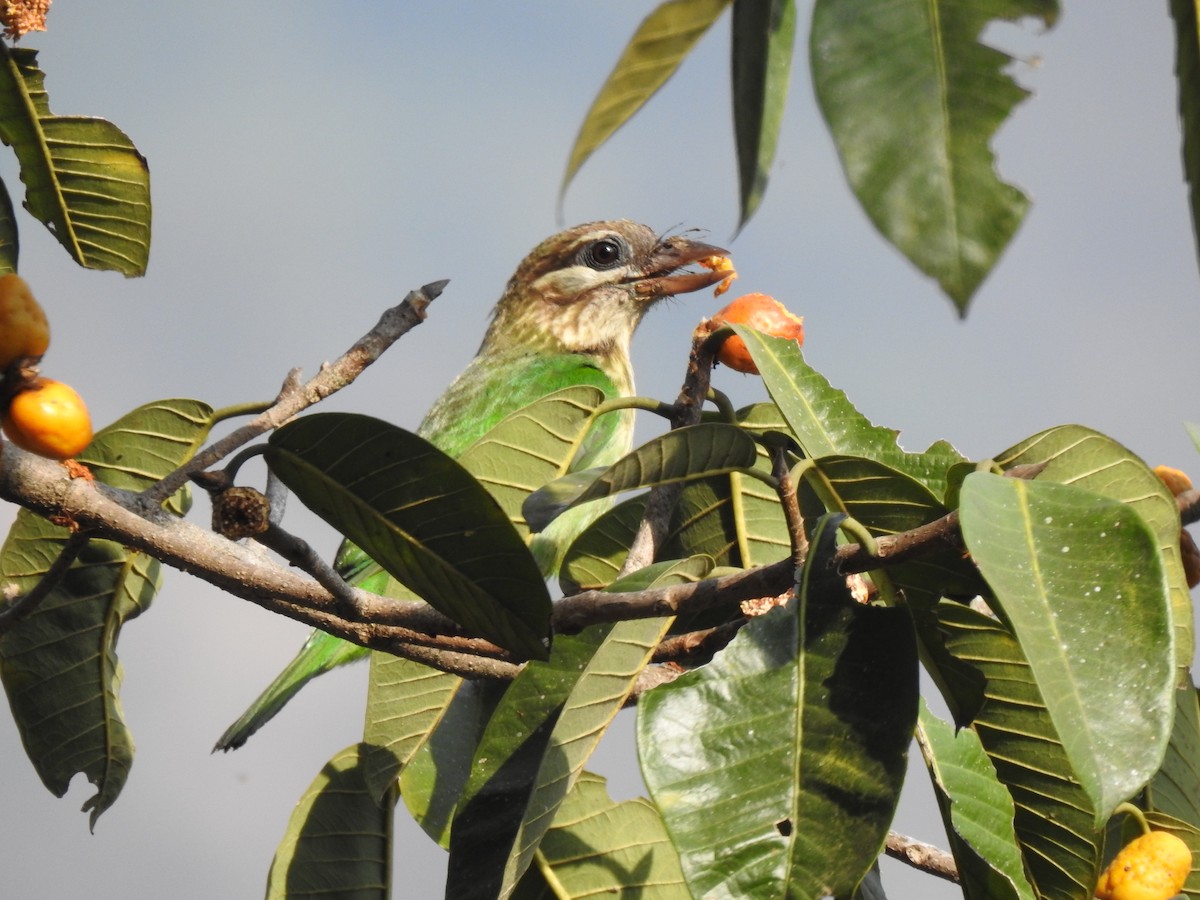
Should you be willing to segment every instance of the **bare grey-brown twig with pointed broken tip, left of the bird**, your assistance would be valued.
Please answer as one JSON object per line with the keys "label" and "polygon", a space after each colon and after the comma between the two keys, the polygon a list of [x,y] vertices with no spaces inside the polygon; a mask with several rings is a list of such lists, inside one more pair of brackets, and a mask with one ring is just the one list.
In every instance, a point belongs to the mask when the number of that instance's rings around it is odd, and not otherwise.
{"label": "bare grey-brown twig with pointed broken tip, left of the bird", "polygon": [[384,312],[374,328],[355,341],[337,360],[323,365],[307,383],[300,383],[299,370],[289,372],[270,409],[214,442],[164,479],[148,487],[142,494],[142,503],[146,509],[158,506],[187,484],[194,473],[216,464],[238,448],[277,428],[313,403],[354,382],[367,366],[379,359],[384,350],[425,320],[425,310],[448,283],[448,281],[434,281],[410,290],[398,305]]}

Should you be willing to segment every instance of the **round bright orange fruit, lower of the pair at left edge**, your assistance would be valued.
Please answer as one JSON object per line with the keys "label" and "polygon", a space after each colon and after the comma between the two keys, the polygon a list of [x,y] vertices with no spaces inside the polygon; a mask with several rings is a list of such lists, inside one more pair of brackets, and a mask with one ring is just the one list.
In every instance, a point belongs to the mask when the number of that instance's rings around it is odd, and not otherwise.
{"label": "round bright orange fruit, lower of the pair at left edge", "polygon": [[91,416],[74,388],[37,378],[12,398],[4,413],[4,433],[22,450],[68,460],[91,443]]}

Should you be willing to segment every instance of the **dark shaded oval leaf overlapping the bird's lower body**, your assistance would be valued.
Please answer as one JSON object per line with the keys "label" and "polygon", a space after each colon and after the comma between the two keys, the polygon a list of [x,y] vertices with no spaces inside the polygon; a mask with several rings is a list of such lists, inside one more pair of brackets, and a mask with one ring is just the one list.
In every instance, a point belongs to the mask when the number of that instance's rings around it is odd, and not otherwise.
{"label": "dark shaded oval leaf overlapping the bird's lower body", "polygon": [[449,456],[379,419],[343,413],[284,425],[265,456],[301,503],[431,606],[522,658],[545,659],[551,604],[538,564],[491,494]]}

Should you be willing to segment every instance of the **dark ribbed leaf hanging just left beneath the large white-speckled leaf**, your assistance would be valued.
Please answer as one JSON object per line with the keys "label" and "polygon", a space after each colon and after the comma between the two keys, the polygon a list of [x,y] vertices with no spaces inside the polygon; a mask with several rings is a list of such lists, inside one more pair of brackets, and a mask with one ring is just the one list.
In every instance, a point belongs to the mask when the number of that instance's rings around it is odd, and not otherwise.
{"label": "dark ribbed leaf hanging just left beneath the large white-speckled leaf", "polygon": [[1091,896],[1103,835],[1021,646],[1001,622],[962,604],[942,601],[937,616],[947,649],[986,678],[972,727],[1013,796],[1013,826],[1037,895]]}

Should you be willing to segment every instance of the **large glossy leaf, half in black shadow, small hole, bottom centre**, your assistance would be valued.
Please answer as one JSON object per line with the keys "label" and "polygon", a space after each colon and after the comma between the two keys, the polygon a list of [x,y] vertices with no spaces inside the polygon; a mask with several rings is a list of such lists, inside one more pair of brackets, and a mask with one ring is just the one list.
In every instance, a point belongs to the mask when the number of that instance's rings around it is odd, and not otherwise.
{"label": "large glossy leaf, half in black shadow, small hole, bottom centre", "polygon": [[814,535],[798,600],[638,701],[642,774],[694,895],[850,894],[878,854],[917,718],[904,610],[853,602]]}

